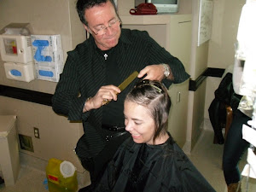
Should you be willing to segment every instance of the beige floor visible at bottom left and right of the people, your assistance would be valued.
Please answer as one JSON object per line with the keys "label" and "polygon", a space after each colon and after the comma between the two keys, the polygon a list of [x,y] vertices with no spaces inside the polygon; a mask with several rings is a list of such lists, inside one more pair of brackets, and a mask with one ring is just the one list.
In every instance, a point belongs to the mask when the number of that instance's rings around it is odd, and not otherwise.
{"label": "beige floor visible at bottom left and right of the people", "polygon": [[[189,154],[190,160],[195,164],[198,170],[208,182],[212,184],[212,187],[217,192],[226,192],[226,186],[224,183],[224,175],[222,171],[222,153],[223,145],[213,144],[213,131],[202,131],[201,137],[196,143],[192,153]],[[246,154],[241,160],[241,170],[246,164]],[[44,185],[45,172],[38,169],[23,166],[21,164],[19,178],[12,187],[5,187],[4,184],[0,185],[1,192],[47,192]],[[242,192],[255,192],[256,191],[256,179],[249,179],[248,189],[246,189],[246,178],[241,182]],[[195,191],[200,192],[200,191]]]}

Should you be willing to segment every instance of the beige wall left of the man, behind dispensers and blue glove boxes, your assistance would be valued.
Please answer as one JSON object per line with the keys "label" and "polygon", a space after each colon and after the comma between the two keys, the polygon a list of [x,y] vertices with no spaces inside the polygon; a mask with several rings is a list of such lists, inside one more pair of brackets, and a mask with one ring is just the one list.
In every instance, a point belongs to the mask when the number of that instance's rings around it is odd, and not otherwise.
{"label": "beige wall left of the man, behind dispensers and blue glove boxes", "polygon": [[[76,0],[1,0],[0,28],[14,23],[29,22],[33,34],[61,34],[61,45],[66,60],[67,51],[84,41],[84,28],[74,8]],[[0,84],[26,90],[53,94],[56,83],[33,80],[30,83],[6,79],[3,61],[0,61]],[[49,160],[55,157],[70,160],[84,172],[73,152],[79,137],[83,135],[81,123],[70,123],[57,115],[49,106],[0,96],[0,113],[16,114],[20,134],[32,137],[34,153],[21,150],[33,157]],[[39,128],[40,139],[34,137],[33,127]]]}

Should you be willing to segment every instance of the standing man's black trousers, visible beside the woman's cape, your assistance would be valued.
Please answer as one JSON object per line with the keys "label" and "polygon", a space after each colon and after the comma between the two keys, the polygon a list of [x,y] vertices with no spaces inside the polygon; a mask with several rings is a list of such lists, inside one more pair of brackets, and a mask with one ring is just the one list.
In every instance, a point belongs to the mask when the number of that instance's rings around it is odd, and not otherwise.
{"label": "standing man's black trousers, visible beside the woman's cape", "polygon": [[[116,132],[116,134],[120,134],[120,132]],[[85,158],[81,160],[81,164],[82,166],[84,166],[84,169],[90,172],[90,181],[92,185],[94,185],[97,179],[102,176],[102,173],[105,171],[105,168],[108,165],[108,161],[113,158],[113,155],[115,154],[119,146],[128,137],[130,137],[129,132],[125,131],[121,134],[122,135],[119,135],[118,137],[113,137],[109,139],[102,151],[95,157]]]}

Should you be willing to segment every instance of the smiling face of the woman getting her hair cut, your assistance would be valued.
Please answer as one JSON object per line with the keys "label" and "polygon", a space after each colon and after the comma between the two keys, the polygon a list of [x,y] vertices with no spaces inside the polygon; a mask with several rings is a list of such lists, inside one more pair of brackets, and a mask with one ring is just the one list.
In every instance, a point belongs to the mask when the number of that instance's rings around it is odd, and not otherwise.
{"label": "smiling face of the woman getting her hair cut", "polygon": [[135,143],[153,144],[155,124],[148,108],[125,101],[125,130],[131,133]]}

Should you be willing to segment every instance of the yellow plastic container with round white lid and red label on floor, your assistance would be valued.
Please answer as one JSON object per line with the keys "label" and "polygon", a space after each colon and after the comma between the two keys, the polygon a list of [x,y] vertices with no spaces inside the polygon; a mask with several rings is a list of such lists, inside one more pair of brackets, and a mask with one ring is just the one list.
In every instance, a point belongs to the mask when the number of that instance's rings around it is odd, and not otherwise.
{"label": "yellow plastic container with round white lid and red label on floor", "polygon": [[52,158],[46,167],[49,192],[76,192],[77,171],[69,161]]}

